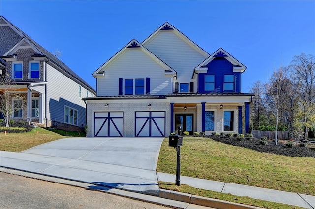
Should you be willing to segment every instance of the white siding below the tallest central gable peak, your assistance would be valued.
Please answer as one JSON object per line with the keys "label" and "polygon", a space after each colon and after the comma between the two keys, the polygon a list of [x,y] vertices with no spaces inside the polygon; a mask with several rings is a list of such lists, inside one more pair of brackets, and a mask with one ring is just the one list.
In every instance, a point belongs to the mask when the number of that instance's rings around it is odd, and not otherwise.
{"label": "white siding below the tallest central gable peak", "polygon": [[[197,52],[172,30],[160,31],[144,46],[177,72],[179,83],[191,82],[193,69],[207,57]],[[195,87],[197,84],[195,84]]]}

